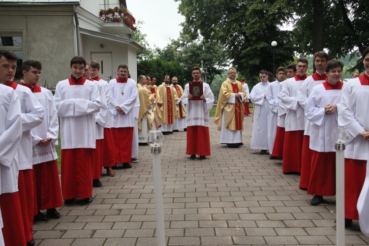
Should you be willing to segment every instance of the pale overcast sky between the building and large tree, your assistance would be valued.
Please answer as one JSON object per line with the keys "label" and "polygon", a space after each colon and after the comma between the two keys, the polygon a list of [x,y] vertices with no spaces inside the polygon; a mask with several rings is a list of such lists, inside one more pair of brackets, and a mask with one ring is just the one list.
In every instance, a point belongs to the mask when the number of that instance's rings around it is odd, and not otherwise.
{"label": "pale overcast sky between the building and large tree", "polygon": [[184,17],[178,13],[179,2],[174,0],[133,0],[127,1],[127,9],[133,17],[145,23],[140,27],[147,34],[147,41],[151,48],[154,45],[164,48],[171,39],[180,36]]}

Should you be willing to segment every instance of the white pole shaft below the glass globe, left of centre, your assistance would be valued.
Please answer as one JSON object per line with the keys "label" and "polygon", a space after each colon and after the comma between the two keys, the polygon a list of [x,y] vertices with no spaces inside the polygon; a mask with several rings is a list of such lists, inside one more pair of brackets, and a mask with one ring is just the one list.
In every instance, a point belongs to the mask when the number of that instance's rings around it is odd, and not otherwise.
{"label": "white pole shaft below the glass globe, left of centre", "polygon": [[154,191],[155,191],[155,211],[156,211],[156,237],[157,245],[165,246],[165,230],[164,230],[164,207],[163,207],[163,188],[161,185],[161,160],[160,152],[153,147],[153,169],[154,169]]}

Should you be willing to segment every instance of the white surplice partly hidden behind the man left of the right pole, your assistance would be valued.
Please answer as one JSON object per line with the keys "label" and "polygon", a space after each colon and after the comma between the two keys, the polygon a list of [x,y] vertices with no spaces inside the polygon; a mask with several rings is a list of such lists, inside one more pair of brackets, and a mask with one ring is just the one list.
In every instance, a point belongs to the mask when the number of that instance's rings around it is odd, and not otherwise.
{"label": "white surplice partly hidden behind the man left of the right pole", "polygon": [[[318,73],[318,72],[316,72]],[[318,73],[319,74],[319,73]],[[313,76],[310,75],[309,77],[304,80],[303,84],[297,90],[297,97],[299,98],[299,104],[306,109],[306,100],[309,97],[311,90],[324,82],[325,80],[314,80]],[[304,129],[304,135],[310,136],[310,122],[305,117],[305,129]]]}

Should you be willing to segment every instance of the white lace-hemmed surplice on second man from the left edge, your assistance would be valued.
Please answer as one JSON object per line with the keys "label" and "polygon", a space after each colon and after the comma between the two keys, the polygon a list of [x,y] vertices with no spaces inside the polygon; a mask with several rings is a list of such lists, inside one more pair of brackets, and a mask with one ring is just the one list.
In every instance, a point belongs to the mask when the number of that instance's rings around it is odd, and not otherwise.
{"label": "white lace-hemmed surplice on second man from the left edge", "polygon": [[[33,164],[39,164],[58,159],[55,146],[58,145],[59,121],[53,93],[41,87],[41,92],[33,95],[45,109],[44,120],[31,129],[33,146]],[[38,146],[42,139],[51,138],[48,146]]]}

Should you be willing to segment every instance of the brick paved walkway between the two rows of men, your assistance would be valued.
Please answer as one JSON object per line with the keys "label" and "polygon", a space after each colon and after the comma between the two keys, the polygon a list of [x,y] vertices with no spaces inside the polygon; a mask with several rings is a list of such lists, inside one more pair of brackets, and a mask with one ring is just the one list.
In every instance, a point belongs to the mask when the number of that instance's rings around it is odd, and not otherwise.
{"label": "brick paved walkway between the two rows of men", "polygon": [[[310,206],[299,176],[284,175],[280,160],[250,150],[251,117],[245,117],[245,145],[219,144],[211,118],[212,155],[190,160],[185,132],[164,136],[162,181],[165,236],[178,245],[335,245],[335,197]],[[40,246],[156,245],[150,147],[140,146],[139,163],[100,179],[90,205],[60,209],[60,219],[34,224]],[[358,221],[346,229],[346,245],[368,245]]]}

